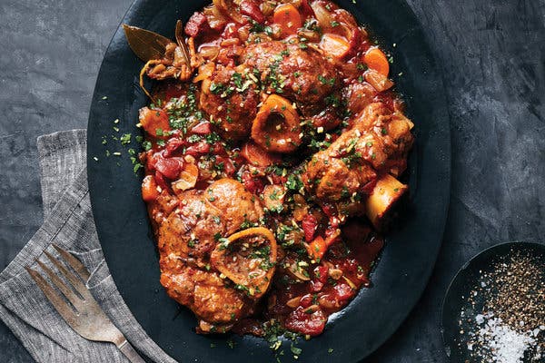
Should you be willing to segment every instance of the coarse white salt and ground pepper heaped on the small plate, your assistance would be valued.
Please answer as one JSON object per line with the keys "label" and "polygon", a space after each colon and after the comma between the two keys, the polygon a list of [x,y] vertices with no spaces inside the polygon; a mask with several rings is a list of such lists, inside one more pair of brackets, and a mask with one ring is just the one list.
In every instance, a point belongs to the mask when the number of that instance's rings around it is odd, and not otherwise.
{"label": "coarse white salt and ground pepper heaped on the small plate", "polygon": [[471,361],[544,362],[543,256],[511,250],[480,272],[459,321]]}

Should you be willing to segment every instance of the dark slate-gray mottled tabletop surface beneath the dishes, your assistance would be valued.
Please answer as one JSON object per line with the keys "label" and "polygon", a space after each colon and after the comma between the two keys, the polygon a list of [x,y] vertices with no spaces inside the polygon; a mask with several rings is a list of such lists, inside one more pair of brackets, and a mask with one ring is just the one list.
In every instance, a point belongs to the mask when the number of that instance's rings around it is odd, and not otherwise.
{"label": "dark slate-gray mottled tabletop surface beneath the dishes", "polygon": [[[373,363],[446,362],[441,299],[456,270],[490,245],[545,239],[545,0],[408,2],[449,99],[451,208],[428,289]],[[85,127],[130,4],[0,0],[0,270],[42,222],[35,139]],[[1,323],[0,361],[32,362]]]}

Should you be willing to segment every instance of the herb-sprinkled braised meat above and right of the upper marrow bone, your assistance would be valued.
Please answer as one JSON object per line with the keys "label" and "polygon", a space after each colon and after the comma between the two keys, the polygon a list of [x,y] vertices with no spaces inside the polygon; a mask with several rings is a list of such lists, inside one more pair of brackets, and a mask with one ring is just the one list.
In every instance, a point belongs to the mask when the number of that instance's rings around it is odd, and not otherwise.
{"label": "herb-sprinkled braised meat above and right of the upper marrow bone", "polygon": [[[314,126],[331,130],[340,123],[334,109],[340,106],[341,76],[320,51],[305,46],[279,41],[249,44],[242,61],[261,73],[269,93],[296,102]],[[323,117],[325,113],[328,117]]]}

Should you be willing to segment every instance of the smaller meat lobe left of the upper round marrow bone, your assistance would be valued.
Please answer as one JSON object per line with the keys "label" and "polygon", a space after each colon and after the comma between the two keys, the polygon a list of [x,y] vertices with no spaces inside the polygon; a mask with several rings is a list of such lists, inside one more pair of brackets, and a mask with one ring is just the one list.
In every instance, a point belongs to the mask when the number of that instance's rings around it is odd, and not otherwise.
{"label": "smaller meat lobe left of the upper round marrow bone", "polygon": [[257,84],[245,67],[223,67],[202,83],[201,109],[213,116],[224,139],[238,141],[248,136],[260,102]]}

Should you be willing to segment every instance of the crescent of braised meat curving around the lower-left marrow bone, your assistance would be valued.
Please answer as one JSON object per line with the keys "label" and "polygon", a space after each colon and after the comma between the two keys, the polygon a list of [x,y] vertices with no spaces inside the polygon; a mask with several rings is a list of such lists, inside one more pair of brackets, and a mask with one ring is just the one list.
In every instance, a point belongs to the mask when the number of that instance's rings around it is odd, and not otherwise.
{"label": "crescent of braised meat curving around the lower-left marrow bone", "polygon": [[240,230],[243,223],[263,218],[263,208],[240,182],[221,179],[204,191],[185,191],[178,207],[157,232],[161,255],[161,283],[169,296],[193,310],[204,322],[229,329],[253,307],[233,282],[211,269],[210,255],[222,238]]}

